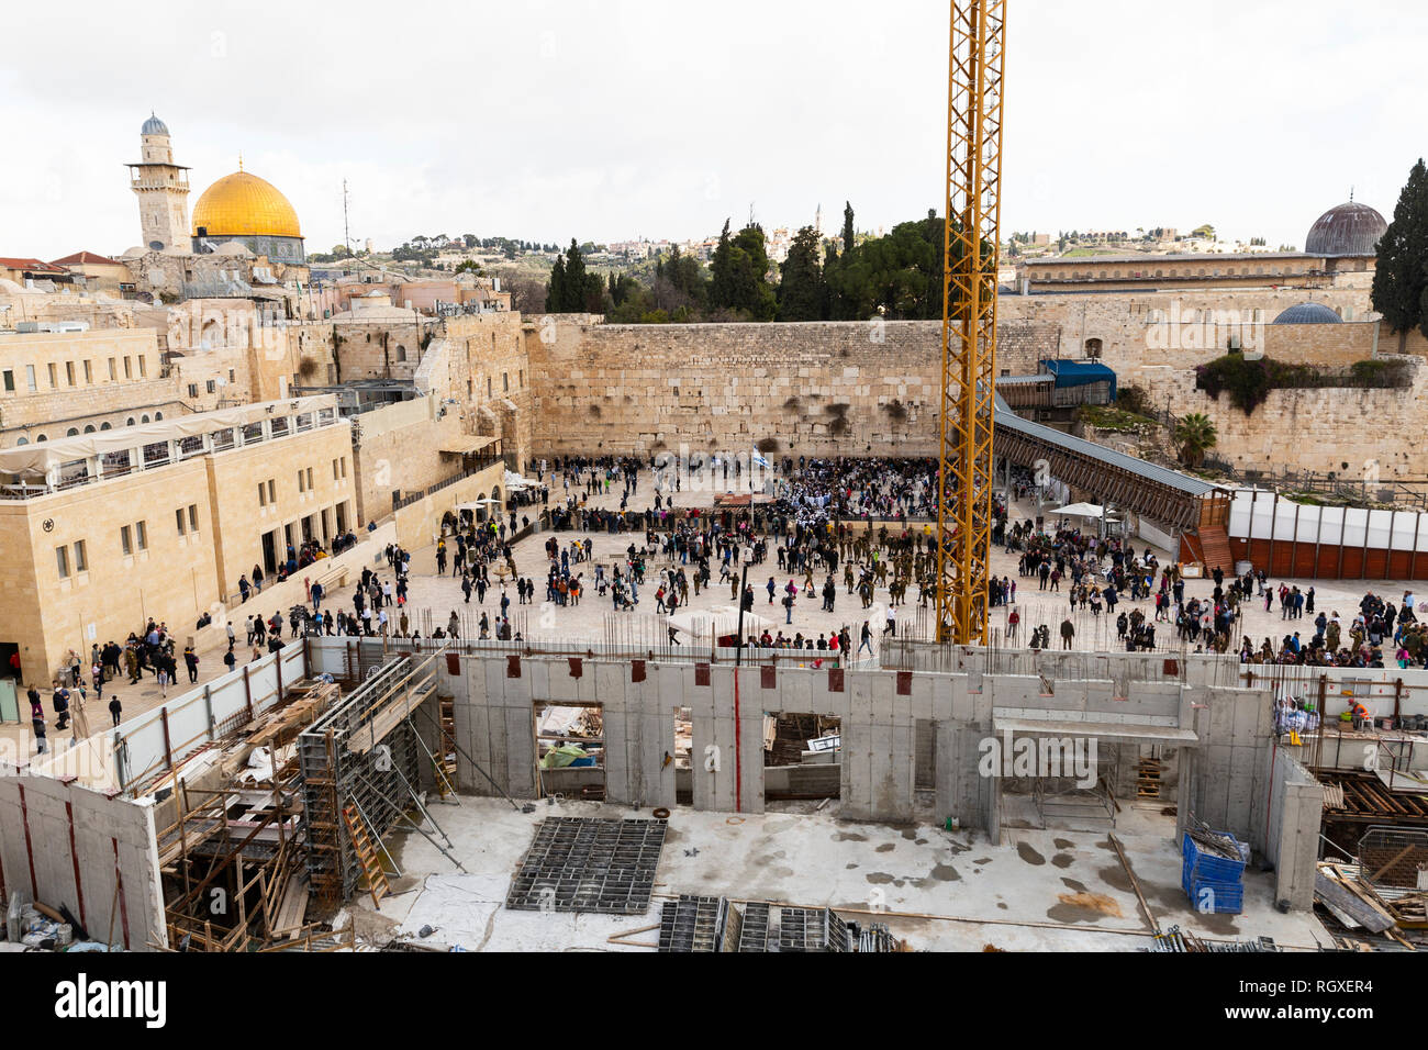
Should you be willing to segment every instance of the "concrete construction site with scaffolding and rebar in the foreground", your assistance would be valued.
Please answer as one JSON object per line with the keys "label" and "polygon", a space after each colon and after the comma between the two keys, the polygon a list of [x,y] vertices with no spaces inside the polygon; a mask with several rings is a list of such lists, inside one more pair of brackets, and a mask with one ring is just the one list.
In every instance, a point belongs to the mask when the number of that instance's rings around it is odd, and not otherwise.
{"label": "concrete construction site with scaffolding and rebar in the foreground", "polygon": [[[1428,680],[928,643],[885,656],[902,670],[600,649],[307,637],[0,779],[11,940],[1424,944]],[[1355,704],[1394,714],[1341,721]],[[571,743],[588,761],[553,763]]]}

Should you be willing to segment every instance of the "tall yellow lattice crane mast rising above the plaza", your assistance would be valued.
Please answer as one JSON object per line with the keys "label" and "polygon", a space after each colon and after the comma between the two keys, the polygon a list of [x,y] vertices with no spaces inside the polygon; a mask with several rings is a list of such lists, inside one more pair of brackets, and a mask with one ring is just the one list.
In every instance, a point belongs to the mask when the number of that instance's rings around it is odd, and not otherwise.
{"label": "tall yellow lattice crane mast rising above the plaza", "polygon": [[952,0],[947,84],[937,640],[987,641],[1005,0]]}

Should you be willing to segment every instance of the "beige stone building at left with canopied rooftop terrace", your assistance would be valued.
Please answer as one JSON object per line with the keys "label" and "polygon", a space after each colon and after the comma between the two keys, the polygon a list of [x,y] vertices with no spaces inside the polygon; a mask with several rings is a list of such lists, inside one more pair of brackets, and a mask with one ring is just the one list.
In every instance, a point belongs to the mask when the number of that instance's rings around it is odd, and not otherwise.
{"label": "beige stone building at left with canopied rooftop terrace", "polygon": [[183,637],[254,564],[356,529],[333,399],[268,401],[0,451],[0,659],[27,681],[144,620]]}

